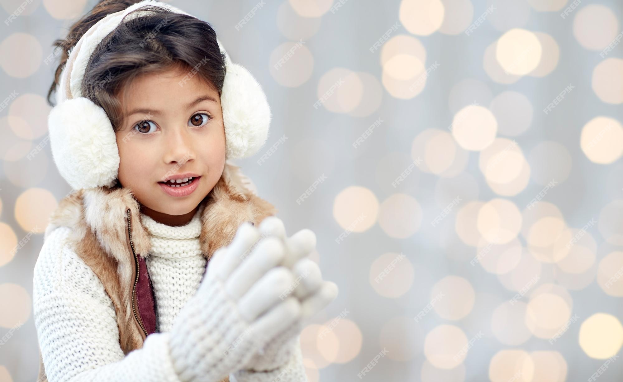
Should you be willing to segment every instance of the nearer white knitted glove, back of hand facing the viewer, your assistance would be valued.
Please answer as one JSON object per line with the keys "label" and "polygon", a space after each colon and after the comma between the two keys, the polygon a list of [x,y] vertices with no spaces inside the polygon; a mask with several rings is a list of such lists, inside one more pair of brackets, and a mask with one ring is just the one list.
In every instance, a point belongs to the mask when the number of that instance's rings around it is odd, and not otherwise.
{"label": "nearer white knitted glove, back of hand facing the viewer", "polygon": [[231,244],[214,253],[197,293],[176,317],[169,349],[180,380],[225,378],[300,317],[298,299],[283,293],[294,277],[277,266],[282,242],[267,237],[252,249],[259,237],[243,223]]}

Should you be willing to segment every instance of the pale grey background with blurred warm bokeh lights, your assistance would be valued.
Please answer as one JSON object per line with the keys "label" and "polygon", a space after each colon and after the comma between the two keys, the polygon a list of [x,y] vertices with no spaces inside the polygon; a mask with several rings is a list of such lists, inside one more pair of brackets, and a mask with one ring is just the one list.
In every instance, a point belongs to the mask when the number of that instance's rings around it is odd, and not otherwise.
{"label": "pale grey background with blurred warm bokeh lights", "polygon": [[[70,191],[51,44],[95,1],[0,3],[0,381],[30,381]],[[620,1],[172,3],[265,88],[269,140],[237,164],[340,287],[302,333],[310,381],[621,380]]]}

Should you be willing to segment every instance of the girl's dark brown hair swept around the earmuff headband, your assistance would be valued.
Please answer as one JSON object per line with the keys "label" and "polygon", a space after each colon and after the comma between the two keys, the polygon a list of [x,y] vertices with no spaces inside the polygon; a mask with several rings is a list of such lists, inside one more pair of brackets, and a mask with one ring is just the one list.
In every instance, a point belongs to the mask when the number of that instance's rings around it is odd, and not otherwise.
{"label": "girl's dark brown hair swept around the earmuff headband", "polygon": [[[75,22],[65,39],[54,42],[53,45],[62,49],[62,53],[54,82],[47,93],[50,105],[54,105],[50,101],[52,93],[59,91],[57,86],[69,59],[69,50],[100,19],[136,2],[102,0]],[[199,78],[215,88],[219,95],[225,79],[225,55],[219,49],[216,32],[210,24],[158,6],[140,7],[140,11],[149,13],[127,20],[129,15],[125,16],[123,22],[97,45],[82,81],[83,97],[105,110],[115,130],[122,117],[118,96],[124,85],[138,75],[169,69],[187,70],[191,74],[193,70],[193,74],[196,71]]]}

